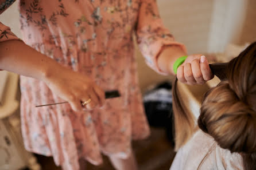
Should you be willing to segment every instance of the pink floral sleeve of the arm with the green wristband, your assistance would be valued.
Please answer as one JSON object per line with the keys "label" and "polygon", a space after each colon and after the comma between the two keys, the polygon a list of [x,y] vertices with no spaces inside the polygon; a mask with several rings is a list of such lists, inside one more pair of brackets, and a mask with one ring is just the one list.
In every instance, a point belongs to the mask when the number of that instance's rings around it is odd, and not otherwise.
{"label": "pink floral sleeve of the arm with the green wristband", "polygon": [[173,35],[164,27],[156,0],[141,0],[136,36],[146,64],[161,74],[164,73],[157,65],[157,58],[164,46],[180,46],[184,52],[187,52],[185,46],[174,41]]}

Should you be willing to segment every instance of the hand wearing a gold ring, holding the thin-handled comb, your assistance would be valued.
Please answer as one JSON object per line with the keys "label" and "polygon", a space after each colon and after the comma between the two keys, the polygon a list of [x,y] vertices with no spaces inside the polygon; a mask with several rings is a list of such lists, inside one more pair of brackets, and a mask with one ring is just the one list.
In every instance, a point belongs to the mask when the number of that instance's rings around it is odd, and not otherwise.
{"label": "hand wearing a gold ring, holding the thin-handled comb", "polygon": [[[50,68],[45,73],[43,81],[46,82],[53,93],[68,101],[75,111],[91,110],[104,104],[104,91],[91,78],[64,66],[59,65],[57,68]],[[91,101],[88,104],[82,106],[81,102],[90,99]]]}

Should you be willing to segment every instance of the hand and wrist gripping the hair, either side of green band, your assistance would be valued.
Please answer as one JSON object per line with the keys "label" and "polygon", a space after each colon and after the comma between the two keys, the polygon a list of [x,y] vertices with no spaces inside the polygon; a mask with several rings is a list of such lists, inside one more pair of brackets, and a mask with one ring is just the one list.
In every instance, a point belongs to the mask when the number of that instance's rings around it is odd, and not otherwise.
{"label": "hand and wrist gripping the hair, either side of green band", "polygon": [[[174,62],[187,54],[179,46],[166,46],[158,57],[157,64],[164,73],[174,74]],[[177,69],[177,78],[180,82],[189,85],[204,84],[214,78],[205,56],[200,54],[189,55]]]}

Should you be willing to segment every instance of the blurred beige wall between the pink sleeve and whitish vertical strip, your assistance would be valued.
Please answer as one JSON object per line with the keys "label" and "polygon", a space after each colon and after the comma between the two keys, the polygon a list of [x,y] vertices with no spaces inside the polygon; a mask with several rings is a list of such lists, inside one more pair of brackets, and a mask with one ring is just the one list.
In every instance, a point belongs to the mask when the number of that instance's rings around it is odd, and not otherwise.
{"label": "blurred beige wall between the pink sleeve and whitish vertical strip", "polygon": [[206,52],[213,0],[158,0],[165,26],[188,53]]}

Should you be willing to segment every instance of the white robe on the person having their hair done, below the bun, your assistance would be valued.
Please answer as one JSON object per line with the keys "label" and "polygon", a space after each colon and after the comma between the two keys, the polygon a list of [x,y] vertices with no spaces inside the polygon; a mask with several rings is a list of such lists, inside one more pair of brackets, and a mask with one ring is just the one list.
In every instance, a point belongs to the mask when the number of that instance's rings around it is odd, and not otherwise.
{"label": "white robe on the person having their hair done, below the bun", "polygon": [[179,149],[170,170],[243,170],[242,156],[222,149],[203,131]]}

